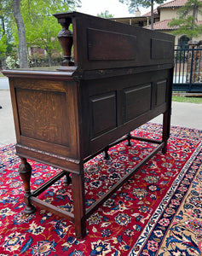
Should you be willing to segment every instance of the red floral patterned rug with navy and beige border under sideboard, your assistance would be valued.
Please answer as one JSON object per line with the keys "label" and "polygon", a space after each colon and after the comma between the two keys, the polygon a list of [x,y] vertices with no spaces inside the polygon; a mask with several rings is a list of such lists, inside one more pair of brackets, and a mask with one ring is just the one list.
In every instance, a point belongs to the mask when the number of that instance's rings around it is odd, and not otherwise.
{"label": "red floral patterned rug with navy and beige border under sideboard", "polygon": [[[162,126],[148,123],[132,133],[159,139]],[[171,127],[168,152],[156,154],[87,220],[87,236],[78,240],[64,218],[37,208],[23,213],[20,160],[14,145],[0,148],[0,255],[201,255],[202,131]],[[86,207],[136,166],[155,145],[132,141],[99,154],[84,166]],[[60,172],[28,160],[32,189]],[[63,178],[39,196],[72,209],[72,186]]]}

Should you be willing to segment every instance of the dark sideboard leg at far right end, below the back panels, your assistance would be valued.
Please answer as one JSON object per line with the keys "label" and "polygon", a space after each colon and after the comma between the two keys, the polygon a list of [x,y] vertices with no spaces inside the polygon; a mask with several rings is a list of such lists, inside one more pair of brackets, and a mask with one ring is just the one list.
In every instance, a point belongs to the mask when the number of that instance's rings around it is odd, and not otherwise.
{"label": "dark sideboard leg at far right end, below the back panels", "polygon": [[162,140],[164,142],[164,148],[162,148],[163,154],[167,152],[167,141],[169,137],[170,137],[170,110],[164,112],[163,135],[162,135]]}

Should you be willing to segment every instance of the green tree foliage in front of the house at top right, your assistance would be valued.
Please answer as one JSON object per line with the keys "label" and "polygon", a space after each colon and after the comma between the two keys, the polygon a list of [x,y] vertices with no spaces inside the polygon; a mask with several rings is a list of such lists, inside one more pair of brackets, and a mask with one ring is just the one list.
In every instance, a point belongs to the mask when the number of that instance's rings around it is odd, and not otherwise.
{"label": "green tree foliage in front of the house at top right", "polygon": [[188,38],[198,38],[202,34],[202,25],[197,24],[196,11],[201,11],[202,2],[199,0],[188,0],[182,8],[177,11],[178,18],[172,19],[170,27],[176,28],[175,35],[186,35]]}

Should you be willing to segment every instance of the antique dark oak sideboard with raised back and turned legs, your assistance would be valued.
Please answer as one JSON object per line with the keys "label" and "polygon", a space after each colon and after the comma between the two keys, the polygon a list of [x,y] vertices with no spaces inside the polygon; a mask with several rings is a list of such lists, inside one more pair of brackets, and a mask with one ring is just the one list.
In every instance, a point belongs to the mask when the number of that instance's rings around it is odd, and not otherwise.
{"label": "antique dark oak sideboard with raised back and turned legs", "polygon": [[[35,206],[68,218],[78,238],[86,219],[159,150],[170,137],[174,37],[136,26],[84,15],[56,14],[64,61],[55,71],[5,70],[9,77],[16,132],[16,154],[24,183],[25,212]],[[68,29],[72,26],[72,32]],[[73,44],[73,49],[72,49]],[[71,57],[72,52],[72,57]],[[73,60],[73,61],[72,61]],[[86,209],[84,162],[130,139],[130,131],[163,113],[162,140],[113,188]],[[27,159],[61,168],[31,192]],[[72,173],[73,213],[38,199],[62,176]]]}

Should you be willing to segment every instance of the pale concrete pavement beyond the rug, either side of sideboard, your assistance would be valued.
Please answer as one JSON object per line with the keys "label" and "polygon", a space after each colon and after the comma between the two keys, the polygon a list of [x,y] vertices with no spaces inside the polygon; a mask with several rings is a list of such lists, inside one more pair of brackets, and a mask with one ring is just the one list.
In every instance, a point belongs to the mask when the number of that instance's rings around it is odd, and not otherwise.
{"label": "pale concrete pavement beyond the rug, either side of sideboard", "polygon": [[[0,147],[3,147],[16,142],[9,90],[0,90],[0,105],[3,107],[0,109]],[[162,115],[152,121],[162,123]],[[202,131],[202,104],[173,102],[171,125]]]}

